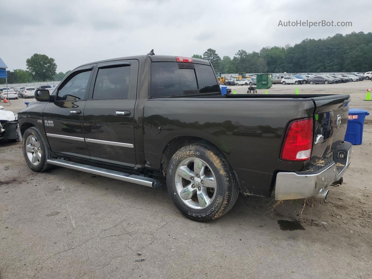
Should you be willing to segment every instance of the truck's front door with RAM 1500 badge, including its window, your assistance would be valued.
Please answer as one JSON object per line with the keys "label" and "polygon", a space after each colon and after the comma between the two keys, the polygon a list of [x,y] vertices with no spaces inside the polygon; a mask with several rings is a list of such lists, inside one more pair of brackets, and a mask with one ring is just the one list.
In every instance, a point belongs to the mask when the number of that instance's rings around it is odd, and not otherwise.
{"label": "truck's front door with RAM 1500 badge, including its window", "polygon": [[58,86],[54,102],[43,112],[43,124],[53,152],[89,158],[83,132],[83,111],[89,92],[93,66],[81,67]]}

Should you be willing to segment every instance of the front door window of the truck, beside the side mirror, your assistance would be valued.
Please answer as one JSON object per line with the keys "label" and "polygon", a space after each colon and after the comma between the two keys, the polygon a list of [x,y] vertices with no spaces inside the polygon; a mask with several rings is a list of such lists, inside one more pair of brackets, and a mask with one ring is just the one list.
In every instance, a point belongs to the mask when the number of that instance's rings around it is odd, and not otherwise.
{"label": "front door window of the truck, beside the side mirror", "polygon": [[92,71],[85,71],[73,75],[70,80],[58,89],[58,100],[81,100],[84,99],[85,92],[88,85],[90,73]]}

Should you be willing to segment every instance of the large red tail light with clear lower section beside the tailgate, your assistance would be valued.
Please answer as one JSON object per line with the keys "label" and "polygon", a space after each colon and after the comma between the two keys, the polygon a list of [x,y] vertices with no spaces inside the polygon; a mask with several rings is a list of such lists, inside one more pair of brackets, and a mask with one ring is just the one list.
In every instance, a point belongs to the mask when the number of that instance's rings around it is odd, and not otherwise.
{"label": "large red tail light with clear lower section beside the tailgate", "polygon": [[280,160],[306,161],[310,159],[313,125],[312,118],[294,120],[289,124]]}

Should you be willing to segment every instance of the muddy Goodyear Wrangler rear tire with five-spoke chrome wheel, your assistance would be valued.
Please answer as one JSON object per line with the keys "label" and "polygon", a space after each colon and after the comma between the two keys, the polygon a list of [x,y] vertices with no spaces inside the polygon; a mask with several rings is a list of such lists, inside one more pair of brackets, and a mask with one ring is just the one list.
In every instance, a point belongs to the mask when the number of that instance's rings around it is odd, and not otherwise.
{"label": "muddy Goodyear Wrangler rear tire with five-spoke chrome wheel", "polygon": [[187,218],[210,221],[227,213],[238,198],[238,185],[224,155],[208,144],[178,150],[169,163],[167,188]]}

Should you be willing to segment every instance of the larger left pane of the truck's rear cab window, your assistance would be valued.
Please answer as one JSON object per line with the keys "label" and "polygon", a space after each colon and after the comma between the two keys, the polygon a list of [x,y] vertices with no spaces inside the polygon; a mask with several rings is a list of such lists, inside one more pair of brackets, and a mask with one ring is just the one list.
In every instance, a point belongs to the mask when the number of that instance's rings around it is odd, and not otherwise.
{"label": "larger left pane of the truck's rear cab window", "polygon": [[195,93],[199,93],[199,90],[194,69],[180,69],[177,62],[151,63],[151,96],[180,96]]}

